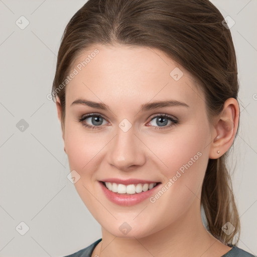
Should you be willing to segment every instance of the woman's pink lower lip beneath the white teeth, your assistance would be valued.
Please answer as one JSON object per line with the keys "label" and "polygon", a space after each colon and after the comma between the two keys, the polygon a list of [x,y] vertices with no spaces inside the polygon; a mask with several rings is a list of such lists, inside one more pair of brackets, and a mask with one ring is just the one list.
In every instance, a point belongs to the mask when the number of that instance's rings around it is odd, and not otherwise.
{"label": "woman's pink lower lip beneath the white teeth", "polygon": [[132,195],[124,195],[124,194],[118,194],[110,191],[108,188],[106,188],[102,182],[98,181],[100,183],[100,187],[102,188],[105,196],[113,203],[117,205],[122,205],[122,206],[131,206],[138,204],[140,202],[143,202],[147,198],[150,198],[156,190],[158,190],[159,186],[161,185],[158,184],[154,188],[144,192],[142,191],[141,193],[136,193]]}

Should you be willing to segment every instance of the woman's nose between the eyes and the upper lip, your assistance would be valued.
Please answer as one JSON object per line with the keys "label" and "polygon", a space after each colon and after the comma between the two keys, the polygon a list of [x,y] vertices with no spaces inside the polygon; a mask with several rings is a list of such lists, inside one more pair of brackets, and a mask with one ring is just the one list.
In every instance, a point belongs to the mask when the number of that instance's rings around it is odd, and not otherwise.
{"label": "woman's nose between the eyes and the upper lip", "polygon": [[133,126],[127,132],[118,128],[117,135],[108,145],[108,163],[119,170],[129,171],[146,162],[144,145],[135,135]]}

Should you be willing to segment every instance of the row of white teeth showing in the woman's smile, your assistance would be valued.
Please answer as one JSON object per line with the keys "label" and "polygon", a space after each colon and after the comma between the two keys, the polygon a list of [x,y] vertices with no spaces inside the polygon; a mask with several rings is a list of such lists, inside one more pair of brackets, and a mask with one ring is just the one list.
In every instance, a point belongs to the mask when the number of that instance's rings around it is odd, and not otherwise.
{"label": "row of white teeth showing in the woman's smile", "polygon": [[114,192],[119,194],[136,194],[141,193],[142,191],[146,192],[157,185],[157,183],[151,184],[131,184],[131,185],[123,185],[123,184],[116,184],[110,182],[104,182],[106,187]]}

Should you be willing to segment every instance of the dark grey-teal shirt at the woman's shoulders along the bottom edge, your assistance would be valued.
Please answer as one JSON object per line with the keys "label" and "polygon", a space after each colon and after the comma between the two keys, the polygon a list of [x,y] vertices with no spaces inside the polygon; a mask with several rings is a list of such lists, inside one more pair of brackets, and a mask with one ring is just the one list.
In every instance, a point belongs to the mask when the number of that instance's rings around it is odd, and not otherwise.
{"label": "dark grey-teal shirt at the woman's shoulders along the bottom edge", "polygon": [[[64,257],[91,257],[92,252],[95,248],[95,246],[102,240],[102,238],[98,239],[97,241],[93,242],[92,244],[90,244],[89,246],[87,246],[86,248],[79,250],[73,254],[64,256]],[[222,255],[221,257],[256,257],[252,254],[250,254],[249,252],[246,252],[234,245],[230,245],[230,247],[232,247],[232,249],[230,251],[228,251],[226,254]],[[92,256],[92,257],[98,257],[98,255],[96,256]]]}

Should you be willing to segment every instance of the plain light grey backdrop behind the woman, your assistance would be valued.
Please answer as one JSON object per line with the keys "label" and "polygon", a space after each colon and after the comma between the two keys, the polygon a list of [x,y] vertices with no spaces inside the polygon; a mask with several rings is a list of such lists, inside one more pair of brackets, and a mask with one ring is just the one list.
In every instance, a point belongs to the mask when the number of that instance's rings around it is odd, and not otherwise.
{"label": "plain light grey backdrop behind the woman", "polygon": [[[61,35],[84,3],[0,0],[0,256],[63,256],[101,237],[100,225],[66,177],[61,127],[47,99]],[[212,3],[235,21],[241,117],[228,163],[242,226],[239,247],[256,255],[257,2]],[[16,25],[21,16],[29,21],[24,30]],[[21,119],[29,125],[23,131]],[[24,235],[22,221],[29,227]]]}

